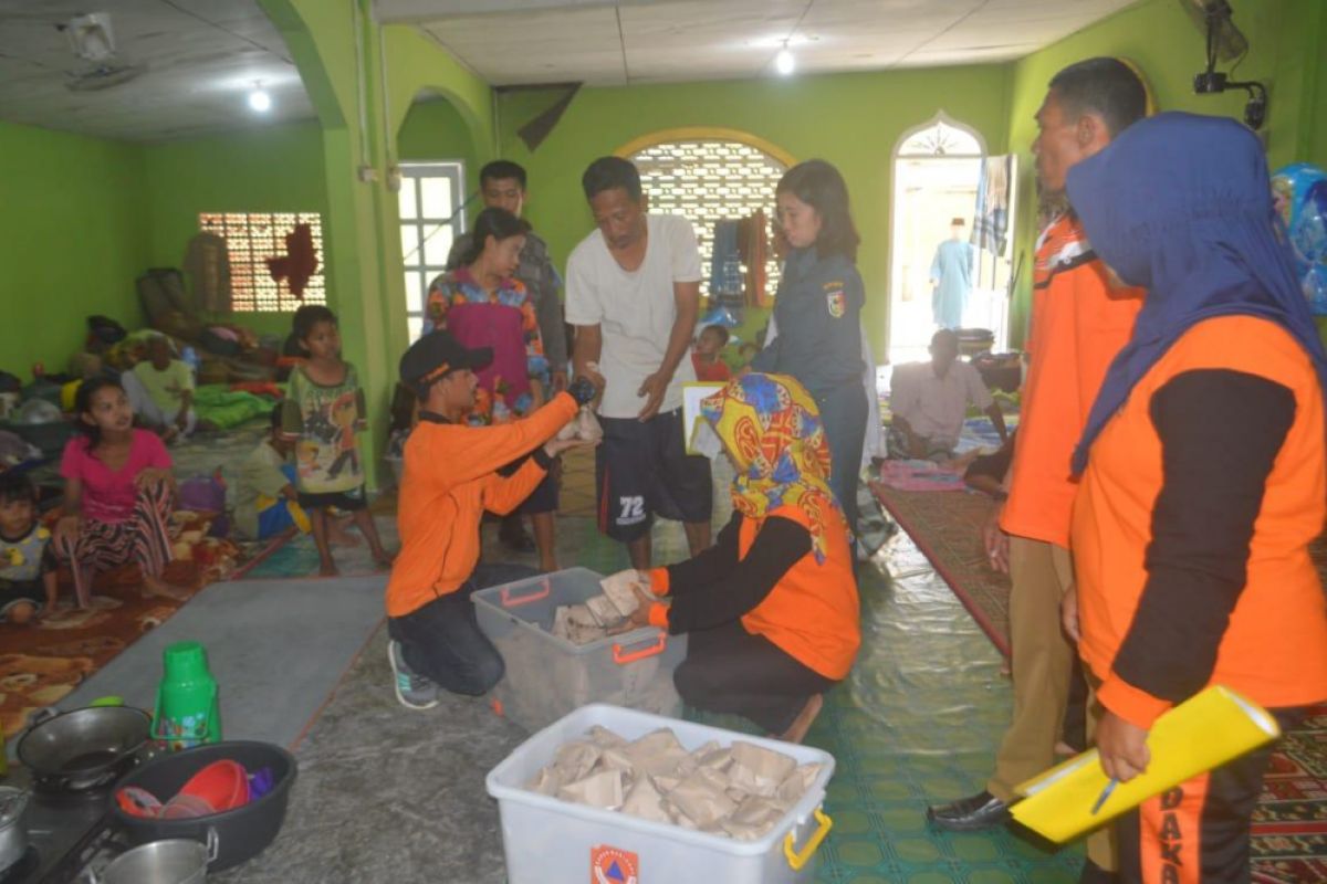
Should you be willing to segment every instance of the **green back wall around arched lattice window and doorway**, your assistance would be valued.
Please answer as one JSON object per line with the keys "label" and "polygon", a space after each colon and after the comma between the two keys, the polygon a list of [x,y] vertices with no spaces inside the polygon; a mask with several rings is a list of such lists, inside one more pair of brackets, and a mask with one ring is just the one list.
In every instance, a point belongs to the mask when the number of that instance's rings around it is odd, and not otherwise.
{"label": "green back wall around arched lattice window and doorway", "polygon": [[790,80],[718,81],[583,89],[533,152],[515,131],[556,101],[555,93],[499,97],[500,155],[529,172],[527,216],[561,266],[591,231],[580,175],[596,156],[677,127],[722,127],[764,139],[794,159],[823,158],[848,182],[863,245],[868,333],[885,353],[889,278],[890,154],[908,129],[943,110],[982,134],[1007,140],[1010,68],[975,65]]}

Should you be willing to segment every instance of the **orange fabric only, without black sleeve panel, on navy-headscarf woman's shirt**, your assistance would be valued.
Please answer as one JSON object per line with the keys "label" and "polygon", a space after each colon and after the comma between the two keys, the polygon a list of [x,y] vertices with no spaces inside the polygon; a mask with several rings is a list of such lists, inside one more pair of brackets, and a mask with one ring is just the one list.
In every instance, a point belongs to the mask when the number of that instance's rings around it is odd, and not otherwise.
{"label": "orange fabric only, without black sleeve panel, on navy-headscarf woman's shirt", "polygon": [[[1101,702],[1141,726],[1169,704],[1125,683],[1112,664],[1148,579],[1144,555],[1162,485],[1161,440],[1149,407],[1153,394],[1172,378],[1204,368],[1266,378],[1295,398],[1295,419],[1254,522],[1247,582],[1221,640],[1210,684],[1273,708],[1327,697],[1327,599],[1308,557],[1308,543],[1327,517],[1318,375],[1279,325],[1221,317],[1189,329],[1133,388],[1092,445],[1074,509],[1079,651],[1103,680]],[[1239,415],[1225,419],[1239,420]]]}

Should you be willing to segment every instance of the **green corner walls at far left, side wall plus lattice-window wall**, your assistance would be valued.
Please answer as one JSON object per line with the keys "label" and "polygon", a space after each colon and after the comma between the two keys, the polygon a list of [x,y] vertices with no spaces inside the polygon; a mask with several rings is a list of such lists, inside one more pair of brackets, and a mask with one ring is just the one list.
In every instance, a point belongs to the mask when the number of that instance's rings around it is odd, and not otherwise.
{"label": "green corner walls at far left, side wall plus lattice-window wall", "polygon": [[[62,371],[90,314],[139,327],[134,280],[180,266],[199,212],[326,213],[312,121],[149,146],[0,123],[0,205],[21,207],[0,213],[0,368],[24,379],[33,362]],[[291,326],[281,313],[222,318]]]}

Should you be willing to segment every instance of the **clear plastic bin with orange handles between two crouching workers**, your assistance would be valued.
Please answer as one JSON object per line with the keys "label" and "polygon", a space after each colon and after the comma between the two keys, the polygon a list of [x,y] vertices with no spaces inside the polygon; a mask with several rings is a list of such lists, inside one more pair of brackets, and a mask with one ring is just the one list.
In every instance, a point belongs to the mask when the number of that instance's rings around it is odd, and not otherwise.
{"label": "clear plastic bin with orange handles between two crouching workers", "polygon": [[589,644],[553,637],[553,612],[601,592],[601,574],[573,567],[479,590],[471,599],[479,628],[507,664],[494,689],[503,714],[539,730],[587,702],[609,702],[679,716],[673,671],[686,657],[686,636],[656,627]]}

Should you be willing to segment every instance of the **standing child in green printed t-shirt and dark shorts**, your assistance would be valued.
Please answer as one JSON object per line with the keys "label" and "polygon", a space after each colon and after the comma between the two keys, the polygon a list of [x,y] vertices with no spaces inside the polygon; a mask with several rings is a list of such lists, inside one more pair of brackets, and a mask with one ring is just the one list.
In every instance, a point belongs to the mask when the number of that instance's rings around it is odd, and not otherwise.
{"label": "standing child in green printed t-shirt and dark shorts", "polygon": [[368,417],[364,390],[354,366],[341,359],[336,314],[325,306],[305,304],[295,311],[293,331],[309,358],[291,371],[281,435],[296,445],[295,488],[318,547],[318,574],[337,574],[330,547],[332,508],[350,513],[369,541],[374,561],[390,567],[391,557],[382,549],[368,509],[354,437]]}

